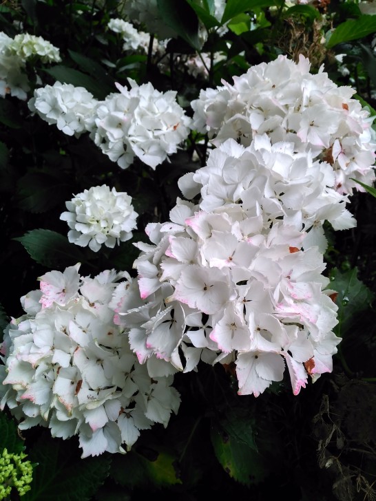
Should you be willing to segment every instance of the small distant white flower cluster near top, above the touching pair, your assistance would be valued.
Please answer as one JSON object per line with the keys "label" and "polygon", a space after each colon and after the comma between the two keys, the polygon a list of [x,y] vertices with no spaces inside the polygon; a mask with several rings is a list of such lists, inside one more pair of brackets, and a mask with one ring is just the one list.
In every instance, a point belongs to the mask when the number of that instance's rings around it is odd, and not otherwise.
{"label": "small distant white flower cluster near top, above the touching pair", "polygon": [[[121,35],[123,39],[123,50],[126,51],[141,51],[147,54],[149,50],[150,34],[138,31],[132,23],[128,23],[123,19],[110,19],[107,23],[109,30]],[[162,56],[165,53],[165,43],[153,40],[153,54]]]}

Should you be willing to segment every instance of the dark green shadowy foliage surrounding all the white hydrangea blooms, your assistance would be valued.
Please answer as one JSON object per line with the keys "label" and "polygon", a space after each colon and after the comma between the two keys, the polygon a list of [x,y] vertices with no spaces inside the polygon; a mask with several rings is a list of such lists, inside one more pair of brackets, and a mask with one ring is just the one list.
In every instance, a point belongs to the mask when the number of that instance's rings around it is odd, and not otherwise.
{"label": "dark green shadowy foliage surrounding all the white hydrangea blooms", "polygon": [[[82,85],[101,99],[114,92],[115,82],[125,85],[130,77],[139,84],[150,81],[163,92],[176,90],[191,114],[189,103],[201,88],[220,85],[222,78],[231,81],[278,54],[296,60],[302,53],[311,59],[313,72],[324,64],[333,81],[355,87],[374,113],[376,16],[363,14],[357,1],[294,6],[283,0],[228,0],[222,23],[229,21],[229,30],[220,37],[208,14],[211,1],[158,0],[166,23],[180,34],[169,43],[167,72],[145,54],[123,52],[116,34],[107,30],[109,19],[122,15],[119,5],[112,0],[5,1],[0,30],[14,36],[22,23],[24,32],[59,47],[62,63],[30,63],[32,87],[38,87],[38,75],[43,85],[56,80]],[[209,30],[202,50],[226,56],[206,80],[176,64],[179,54],[198,49],[198,19]],[[348,74],[341,71],[337,54],[344,54]],[[207,142],[202,139],[192,134],[185,149],[156,171],[138,161],[123,171],[87,136],[65,136],[32,116],[27,103],[1,99],[2,325],[22,314],[19,298],[36,288],[36,277],[48,270],[81,262],[83,275],[116,268],[134,276],[138,251],[132,242],[145,239],[148,222],[168,219],[180,195],[178,178],[198,167],[195,159],[205,164]],[[139,217],[132,242],[96,254],[69,244],[59,217],[65,200],[98,184],[127,191]],[[355,193],[350,209],[357,228],[335,234],[328,229],[326,273],[339,292],[336,334],[342,337],[332,374],[298,396],[286,380],[257,399],[238,396],[236,380],[222,366],[178,374],[178,415],[167,429],[156,425],[144,431],[125,456],[81,460],[74,438],[52,439],[39,428],[20,437],[3,412],[0,449],[24,449],[35,464],[32,490],[23,500],[127,501],[156,492],[166,500],[192,501],[208,493],[255,501],[284,495],[299,501],[375,499],[375,204],[371,193]]]}

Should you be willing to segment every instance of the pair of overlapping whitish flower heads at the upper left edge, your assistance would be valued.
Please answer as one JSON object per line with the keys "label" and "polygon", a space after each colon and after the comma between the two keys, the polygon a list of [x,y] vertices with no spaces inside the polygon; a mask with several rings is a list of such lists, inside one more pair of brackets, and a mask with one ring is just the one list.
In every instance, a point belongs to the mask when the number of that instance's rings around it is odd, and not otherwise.
{"label": "pair of overlapping whitish flower heads at the upper left edge", "polygon": [[41,36],[18,34],[14,39],[0,32],[0,96],[6,94],[25,100],[30,90],[25,63],[31,57],[43,63],[61,61],[59,49]]}

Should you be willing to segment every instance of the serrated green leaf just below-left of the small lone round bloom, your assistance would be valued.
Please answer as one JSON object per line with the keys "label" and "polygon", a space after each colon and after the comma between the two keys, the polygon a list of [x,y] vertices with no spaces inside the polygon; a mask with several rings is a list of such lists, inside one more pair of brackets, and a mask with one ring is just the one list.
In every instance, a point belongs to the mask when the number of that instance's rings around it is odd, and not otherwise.
{"label": "serrated green leaf just below-left of the small lone round bloom", "polygon": [[48,268],[63,268],[85,262],[85,256],[79,248],[56,231],[32,230],[14,240],[21,242],[35,262]]}

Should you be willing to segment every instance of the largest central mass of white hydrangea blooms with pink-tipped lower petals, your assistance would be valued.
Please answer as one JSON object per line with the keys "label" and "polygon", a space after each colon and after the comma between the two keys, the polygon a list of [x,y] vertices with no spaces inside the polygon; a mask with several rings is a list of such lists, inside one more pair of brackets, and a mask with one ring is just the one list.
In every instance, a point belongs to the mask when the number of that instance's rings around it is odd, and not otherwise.
{"label": "largest central mass of white hydrangea blooms with pink-tipped lower petals", "polygon": [[147,225],[151,244],[136,244],[139,292],[119,286],[114,309],[141,363],[233,364],[239,394],[254,396],[285,367],[294,394],[331,372],[337,306],[306,230],[352,220],[330,165],[293,148],[267,136],[247,148],[227,140],[180,179],[200,202],[178,199],[169,222]]}

